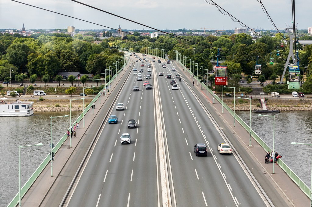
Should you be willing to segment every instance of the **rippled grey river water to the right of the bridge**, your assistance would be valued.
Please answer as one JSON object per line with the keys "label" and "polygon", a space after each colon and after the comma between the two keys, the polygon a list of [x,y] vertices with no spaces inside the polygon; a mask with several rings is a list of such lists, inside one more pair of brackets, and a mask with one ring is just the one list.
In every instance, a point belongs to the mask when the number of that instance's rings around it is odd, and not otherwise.
{"label": "rippled grey river water to the right of the bridge", "polygon": [[[249,111],[236,111],[237,115],[249,125]],[[307,185],[311,186],[311,146],[292,145],[291,142],[312,143],[312,112],[280,112],[275,115],[274,148],[283,161]],[[260,117],[251,113],[251,129],[273,149],[273,117]],[[266,152],[263,152],[263,161]]]}

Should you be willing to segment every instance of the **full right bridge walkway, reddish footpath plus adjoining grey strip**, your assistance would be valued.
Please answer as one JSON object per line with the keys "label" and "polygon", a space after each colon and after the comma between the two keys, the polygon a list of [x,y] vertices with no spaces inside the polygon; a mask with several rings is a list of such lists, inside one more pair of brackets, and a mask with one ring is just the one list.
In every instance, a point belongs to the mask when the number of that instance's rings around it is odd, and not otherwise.
{"label": "full right bridge walkway, reddish footpath plus adjoining grey strip", "polygon": [[[233,127],[233,116],[223,108],[216,99],[213,104],[213,96],[203,88],[187,71],[183,71],[179,65],[173,61],[173,66],[178,69],[189,87],[194,91],[202,103],[208,108],[219,126],[224,126],[225,135],[228,137],[234,135],[236,139],[230,140],[235,145],[243,161],[248,166],[251,173],[256,177],[266,195],[270,198],[274,206],[310,206],[310,198],[288,177],[288,175],[274,163],[265,163],[266,151],[251,137],[251,146],[249,146],[249,132],[246,131],[238,122]],[[275,129],[276,130],[276,129]],[[302,165],[302,163],[298,163]]]}

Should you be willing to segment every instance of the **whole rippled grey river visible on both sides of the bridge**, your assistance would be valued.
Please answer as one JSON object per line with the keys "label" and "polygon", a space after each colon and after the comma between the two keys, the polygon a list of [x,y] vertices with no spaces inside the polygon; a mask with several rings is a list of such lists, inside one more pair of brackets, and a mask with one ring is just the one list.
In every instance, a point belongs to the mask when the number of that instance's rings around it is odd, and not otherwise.
{"label": "whole rippled grey river visible on both sides of the bridge", "polygon": [[[236,111],[249,124],[249,111]],[[24,185],[42,160],[50,153],[50,116],[69,115],[69,112],[36,112],[31,117],[0,117],[0,206],[7,206],[18,192],[18,145],[21,149],[21,185]],[[72,112],[72,121],[81,112]],[[273,148],[273,117],[251,114],[251,128]],[[268,115],[268,114],[266,114]],[[270,114],[273,115],[273,114]],[[69,128],[69,117],[52,119],[52,142],[56,144]],[[291,145],[290,142],[312,143],[312,112],[281,112],[275,114],[275,151],[283,161],[310,186],[311,147]],[[79,131],[78,131],[79,133]],[[263,159],[266,153],[263,152]]]}

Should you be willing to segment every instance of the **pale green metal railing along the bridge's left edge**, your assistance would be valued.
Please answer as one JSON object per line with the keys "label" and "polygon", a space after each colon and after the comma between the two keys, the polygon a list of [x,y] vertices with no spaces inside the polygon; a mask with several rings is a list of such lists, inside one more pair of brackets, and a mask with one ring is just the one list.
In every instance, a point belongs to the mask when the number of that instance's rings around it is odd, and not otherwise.
{"label": "pale green metal railing along the bridge's left edge", "polygon": [[[119,69],[118,73],[120,73],[126,66],[128,65],[128,63],[124,63],[124,65]],[[117,77],[117,73],[115,74],[115,76],[113,76],[113,78]],[[110,81],[106,84],[106,85],[110,85],[110,83],[113,81],[113,78],[110,79]],[[100,93],[98,93],[95,98],[90,102],[90,104],[85,108],[85,113],[87,113],[89,111],[89,109],[92,107],[93,102],[95,102],[99,97],[100,97]],[[76,122],[80,122],[83,118],[83,112],[80,114],[80,116],[76,119],[75,122],[73,122],[73,124],[71,125],[71,127],[73,127]],[[69,128],[69,130],[71,130],[71,127]],[[61,148],[61,146],[64,144],[64,142],[67,139],[67,133],[65,133],[62,138],[58,141],[58,143],[54,146],[54,148],[52,149],[52,152],[54,152],[54,154],[56,154],[56,152]],[[42,163],[39,165],[39,167],[35,170],[35,172],[32,174],[32,176],[27,180],[27,182],[25,183],[25,185],[22,186],[21,188],[21,197],[23,198],[23,196],[26,194],[26,192],[29,190],[29,188],[32,186],[32,184],[36,181],[37,177],[39,177],[39,175],[41,174],[41,172],[44,170],[44,168],[50,163],[50,153],[46,156],[46,158],[42,161]],[[7,207],[15,207],[17,204],[19,203],[19,192],[14,196],[14,198],[11,200],[11,202],[9,203],[9,205],[7,205]]]}

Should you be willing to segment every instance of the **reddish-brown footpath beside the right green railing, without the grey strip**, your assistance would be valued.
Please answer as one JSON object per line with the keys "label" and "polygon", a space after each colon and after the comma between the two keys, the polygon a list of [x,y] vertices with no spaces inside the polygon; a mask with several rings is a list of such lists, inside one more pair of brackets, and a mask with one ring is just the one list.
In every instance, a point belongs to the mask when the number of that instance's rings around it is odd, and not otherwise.
{"label": "reddish-brown footpath beside the right green railing, without the grey strip", "polygon": [[[187,75],[187,71],[182,71],[182,69],[175,63],[176,68],[179,68],[180,75],[183,74],[183,77],[187,77],[184,81],[187,81],[190,87],[192,87],[193,77],[190,74]],[[201,92],[202,97],[205,97],[207,102],[210,103],[212,108],[215,109],[215,112],[223,118],[223,121],[232,130],[233,134],[236,135],[236,138],[240,141],[241,145],[245,148],[247,153],[259,167],[269,182],[274,186],[276,191],[280,194],[282,198],[288,203],[289,206],[310,206],[310,199],[300,190],[300,188],[288,177],[288,175],[278,166],[274,165],[274,174],[273,174],[273,163],[265,163],[264,159],[266,156],[266,151],[251,137],[251,146],[249,146],[249,132],[247,132],[238,122],[236,122],[235,127],[233,127],[233,116],[223,109],[222,113],[222,104],[218,101],[214,101],[212,104],[213,96],[208,93],[206,96],[206,90],[201,90],[200,82],[197,85],[197,81],[194,80],[194,90]],[[261,184],[261,183],[260,183]],[[266,188],[265,184],[261,184],[262,188]],[[269,196],[270,197],[270,196]],[[274,199],[274,198],[273,198]]]}

